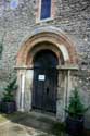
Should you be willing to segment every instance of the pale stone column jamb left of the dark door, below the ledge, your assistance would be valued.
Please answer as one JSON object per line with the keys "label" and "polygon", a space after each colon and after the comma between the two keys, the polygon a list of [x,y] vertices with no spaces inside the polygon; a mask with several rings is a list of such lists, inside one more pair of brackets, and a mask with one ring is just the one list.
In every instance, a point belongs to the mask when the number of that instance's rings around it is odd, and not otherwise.
{"label": "pale stone column jamb left of the dark door, below the ledge", "polygon": [[16,103],[18,111],[31,110],[33,77],[34,70],[24,69],[17,71],[18,90]]}

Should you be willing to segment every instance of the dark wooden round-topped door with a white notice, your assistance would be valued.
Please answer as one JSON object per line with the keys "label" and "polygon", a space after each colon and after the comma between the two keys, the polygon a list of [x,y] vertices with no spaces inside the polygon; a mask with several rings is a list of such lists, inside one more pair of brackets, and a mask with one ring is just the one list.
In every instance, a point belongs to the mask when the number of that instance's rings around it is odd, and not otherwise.
{"label": "dark wooden round-topped door with a white notice", "polygon": [[44,50],[35,58],[33,108],[56,111],[57,60],[53,52]]}

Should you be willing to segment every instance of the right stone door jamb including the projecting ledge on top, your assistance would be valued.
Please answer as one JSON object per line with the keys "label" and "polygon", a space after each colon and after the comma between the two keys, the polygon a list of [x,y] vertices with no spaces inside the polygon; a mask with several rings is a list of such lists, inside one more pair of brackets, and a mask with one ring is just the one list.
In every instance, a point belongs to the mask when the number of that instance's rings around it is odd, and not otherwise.
{"label": "right stone door jamb including the projecting ledge on top", "polygon": [[72,76],[70,73],[74,73],[78,70],[77,66],[73,65],[59,65],[59,84],[57,84],[57,101],[56,101],[56,118],[61,122],[65,120],[66,113],[65,108],[69,102],[69,95],[73,90],[73,82],[75,82],[75,76]]}

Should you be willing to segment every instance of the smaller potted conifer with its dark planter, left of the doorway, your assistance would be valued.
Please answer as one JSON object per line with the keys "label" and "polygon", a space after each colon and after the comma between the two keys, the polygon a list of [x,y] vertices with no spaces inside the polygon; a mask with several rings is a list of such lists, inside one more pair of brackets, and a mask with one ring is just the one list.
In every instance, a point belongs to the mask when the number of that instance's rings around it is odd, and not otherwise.
{"label": "smaller potted conifer with its dark planter, left of the doorway", "polygon": [[16,110],[15,104],[15,90],[17,88],[16,78],[10,79],[9,84],[4,88],[3,98],[1,102],[1,111],[4,113],[11,113]]}

